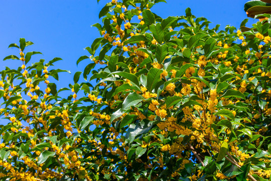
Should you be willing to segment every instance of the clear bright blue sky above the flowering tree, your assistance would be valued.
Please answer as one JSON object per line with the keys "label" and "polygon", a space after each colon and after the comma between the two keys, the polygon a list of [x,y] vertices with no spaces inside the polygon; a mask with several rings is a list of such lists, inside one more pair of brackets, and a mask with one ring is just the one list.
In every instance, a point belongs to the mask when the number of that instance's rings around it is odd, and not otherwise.
{"label": "clear bright blue sky above the flowering tree", "polygon": [[[109,0],[110,1],[110,0]],[[6,60],[4,57],[15,54],[16,48],[9,48],[11,43],[19,44],[20,38],[34,42],[25,51],[40,51],[43,55],[33,55],[31,62],[45,59],[46,62],[54,57],[61,57],[63,61],[55,63],[55,68],[67,69],[72,73],[60,73],[58,88],[73,83],[73,74],[83,71],[90,63],[90,59],[82,61],[76,66],[77,59],[82,55],[89,55],[84,50],[91,46],[93,40],[100,37],[99,32],[91,25],[101,22],[99,11],[109,2],[101,0],[13,0],[0,3],[0,70],[5,66],[17,68],[21,66],[19,60]],[[121,0],[119,0],[121,1]],[[152,11],[162,18],[168,16],[185,15],[185,9],[190,7],[196,17],[205,17],[214,27],[220,24],[220,30],[226,25],[239,27],[243,19],[247,18],[243,10],[247,0],[168,0],[159,3]],[[249,19],[248,27],[257,20]],[[82,76],[82,75],[81,75]],[[81,79],[83,79],[81,77]]]}

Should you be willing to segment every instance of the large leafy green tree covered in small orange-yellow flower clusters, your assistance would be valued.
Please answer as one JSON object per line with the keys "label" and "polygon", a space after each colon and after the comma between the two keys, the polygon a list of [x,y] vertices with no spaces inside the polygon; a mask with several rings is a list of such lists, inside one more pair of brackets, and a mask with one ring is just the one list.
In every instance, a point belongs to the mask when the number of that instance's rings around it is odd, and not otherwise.
{"label": "large leafy green tree covered in small orange-yellow flower clusters", "polygon": [[107,3],[68,88],[50,82],[60,58],[9,46],[0,180],[270,180],[270,24],[218,31],[189,8],[162,19],[159,2]]}

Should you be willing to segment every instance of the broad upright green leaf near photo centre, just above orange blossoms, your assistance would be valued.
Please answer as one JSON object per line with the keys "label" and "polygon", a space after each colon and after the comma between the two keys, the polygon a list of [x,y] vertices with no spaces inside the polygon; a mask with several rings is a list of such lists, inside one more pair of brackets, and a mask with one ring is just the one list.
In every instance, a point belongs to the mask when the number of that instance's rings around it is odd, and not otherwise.
{"label": "broad upright green leaf near photo centre, just above orange blossoms", "polygon": [[147,88],[149,89],[150,92],[153,91],[153,89],[158,89],[158,87],[161,85],[163,82],[160,79],[160,74],[163,72],[161,69],[157,68],[151,68],[149,73],[147,74]]}

